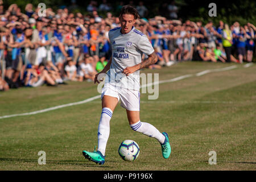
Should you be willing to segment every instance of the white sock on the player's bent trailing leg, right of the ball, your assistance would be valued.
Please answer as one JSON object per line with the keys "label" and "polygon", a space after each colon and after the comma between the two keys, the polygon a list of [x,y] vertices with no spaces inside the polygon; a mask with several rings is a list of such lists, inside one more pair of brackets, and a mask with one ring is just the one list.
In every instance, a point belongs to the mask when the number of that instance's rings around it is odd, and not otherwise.
{"label": "white sock on the player's bent trailing leg, right of the ball", "polygon": [[155,126],[151,125],[150,123],[145,123],[138,121],[137,123],[134,123],[133,125],[130,125],[131,129],[134,131],[138,131],[140,133],[143,133],[144,135],[147,135],[148,137],[153,137],[157,139],[161,144],[164,143],[164,140],[166,137],[158,129],[155,128]]}

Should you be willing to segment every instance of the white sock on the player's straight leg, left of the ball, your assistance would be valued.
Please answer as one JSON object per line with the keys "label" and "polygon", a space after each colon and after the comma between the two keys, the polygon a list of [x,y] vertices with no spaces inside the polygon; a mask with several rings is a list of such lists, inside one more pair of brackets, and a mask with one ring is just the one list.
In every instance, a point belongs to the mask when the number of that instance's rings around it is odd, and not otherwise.
{"label": "white sock on the player's straight leg, left of the ball", "polygon": [[98,151],[105,156],[106,143],[110,133],[110,119],[113,111],[108,107],[104,107],[101,112],[100,123],[98,124]]}

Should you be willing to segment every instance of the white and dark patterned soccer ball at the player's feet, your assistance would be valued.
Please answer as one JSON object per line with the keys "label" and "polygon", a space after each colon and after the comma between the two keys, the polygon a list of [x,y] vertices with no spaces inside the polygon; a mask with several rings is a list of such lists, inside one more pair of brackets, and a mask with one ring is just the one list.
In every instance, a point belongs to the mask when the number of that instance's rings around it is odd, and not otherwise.
{"label": "white and dark patterned soccer ball at the player's feet", "polygon": [[134,140],[124,140],[118,148],[118,154],[123,160],[133,161],[139,156],[139,145]]}

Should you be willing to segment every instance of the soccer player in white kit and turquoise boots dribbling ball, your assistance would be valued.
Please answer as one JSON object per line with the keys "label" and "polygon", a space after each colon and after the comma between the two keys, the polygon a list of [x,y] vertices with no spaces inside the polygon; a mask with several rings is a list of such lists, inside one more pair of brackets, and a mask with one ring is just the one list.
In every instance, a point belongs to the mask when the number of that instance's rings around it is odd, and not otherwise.
{"label": "soccer player in white kit and turquoise boots dribbling ball", "polygon": [[[98,149],[97,151],[94,149],[93,152],[82,151],[86,159],[97,164],[105,163],[110,119],[119,100],[121,100],[121,106],[126,109],[131,129],[157,139],[161,144],[164,158],[169,158],[171,154],[168,134],[160,133],[150,123],[142,122],[139,118],[139,70],[156,63],[157,56],[147,36],[134,28],[138,17],[138,12],[133,6],[122,7],[119,15],[121,27],[109,31],[112,57],[94,79],[94,83],[99,83],[101,81],[100,74],[108,71],[101,94],[102,112],[98,125]],[[142,53],[148,55],[146,60],[141,60]]]}

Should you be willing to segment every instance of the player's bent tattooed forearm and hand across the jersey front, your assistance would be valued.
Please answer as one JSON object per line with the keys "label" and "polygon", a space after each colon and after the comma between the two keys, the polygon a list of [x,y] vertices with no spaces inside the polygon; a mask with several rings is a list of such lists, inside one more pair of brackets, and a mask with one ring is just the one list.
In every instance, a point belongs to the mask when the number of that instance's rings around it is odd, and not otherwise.
{"label": "player's bent tattooed forearm and hand across the jersey front", "polygon": [[155,64],[156,61],[158,61],[158,56],[156,56],[156,53],[153,52],[151,55],[148,55],[148,58],[141,63],[134,65],[133,67],[127,67],[123,69],[123,73],[125,73],[126,76],[129,76],[131,73],[134,73],[139,69],[147,68],[149,65]]}

